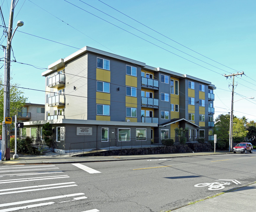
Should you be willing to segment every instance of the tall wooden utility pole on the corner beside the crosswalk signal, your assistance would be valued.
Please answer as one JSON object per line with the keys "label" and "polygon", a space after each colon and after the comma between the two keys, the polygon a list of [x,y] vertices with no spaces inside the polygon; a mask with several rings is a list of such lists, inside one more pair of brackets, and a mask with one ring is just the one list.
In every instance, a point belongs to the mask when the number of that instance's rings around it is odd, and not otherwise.
{"label": "tall wooden utility pole on the corner beside the crosswalk signal", "polygon": [[[12,22],[13,22],[14,2],[11,2],[9,28],[7,33],[7,48],[6,48],[6,101],[5,101],[5,116],[10,117],[10,66],[11,66],[11,38],[12,38]],[[5,118],[5,117],[4,117]],[[10,124],[5,124],[5,160],[11,160],[10,157]]]}

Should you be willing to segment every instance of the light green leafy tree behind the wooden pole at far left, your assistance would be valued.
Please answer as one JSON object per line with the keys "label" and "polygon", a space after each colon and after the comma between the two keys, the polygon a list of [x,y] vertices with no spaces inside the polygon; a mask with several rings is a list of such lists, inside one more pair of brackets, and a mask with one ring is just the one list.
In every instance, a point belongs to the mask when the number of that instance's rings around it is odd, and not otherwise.
{"label": "light green leafy tree behind the wooden pole at far left", "polygon": [[[4,85],[3,79],[0,77],[0,122],[4,120]],[[12,87],[15,86],[15,87]],[[27,97],[24,96],[24,92],[17,88],[17,83],[12,84],[10,87],[10,117],[17,115],[17,112],[25,105]],[[2,128],[0,127],[0,133],[2,134]]]}

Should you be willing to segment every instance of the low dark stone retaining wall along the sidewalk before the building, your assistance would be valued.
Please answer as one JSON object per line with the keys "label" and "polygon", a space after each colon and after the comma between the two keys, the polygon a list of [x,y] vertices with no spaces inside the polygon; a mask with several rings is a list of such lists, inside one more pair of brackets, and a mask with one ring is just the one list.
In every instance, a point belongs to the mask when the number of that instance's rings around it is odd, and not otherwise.
{"label": "low dark stone retaining wall along the sidewalk before the building", "polygon": [[76,156],[111,156],[111,155],[151,155],[151,154],[167,154],[167,153],[186,153],[191,148],[194,152],[211,151],[210,143],[194,143],[194,144],[179,144],[172,146],[160,146],[150,148],[132,148],[132,149],[117,149],[99,151],[95,153],[86,153]]}

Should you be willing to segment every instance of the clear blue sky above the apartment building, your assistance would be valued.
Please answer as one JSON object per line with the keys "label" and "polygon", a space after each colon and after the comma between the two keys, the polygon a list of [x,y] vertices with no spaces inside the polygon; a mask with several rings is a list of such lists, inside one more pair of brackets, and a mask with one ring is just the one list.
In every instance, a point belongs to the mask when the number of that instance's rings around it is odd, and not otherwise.
{"label": "clear blue sky above the apartment building", "polygon": [[[217,87],[214,91],[215,117],[222,113],[226,114],[231,107],[229,85],[232,80],[226,79],[223,75],[244,71],[245,75],[242,78],[235,78],[237,86],[234,101],[243,97],[255,97],[255,99],[235,102],[234,115],[237,117],[245,115],[249,120],[256,120],[255,1],[102,0],[102,2],[19,0],[14,9],[13,28],[16,27],[18,20],[24,21],[24,26],[17,29],[20,32],[16,31],[12,39],[16,61],[47,68],[49,64],[67,57],[79,48],[90,46],[101,49],[145,62],[153,67],[161,67],[212,82]],[[4,21],[8,24],[10,1],[2,0],[1,9]],[[2,21],[0,25],[3,25]],[[4,37],[0,42],[1,45],[6,45]],[[36,69],[17,62],[12,62],[11,67],[13,83],[30,89],[24,89],[28,102],[44,104],[44,92],[31,89],[45,90],[44,77],[41,73],[46,69]],[[3,74],[3,68],[0,71]]]}

